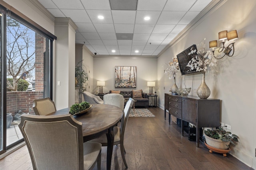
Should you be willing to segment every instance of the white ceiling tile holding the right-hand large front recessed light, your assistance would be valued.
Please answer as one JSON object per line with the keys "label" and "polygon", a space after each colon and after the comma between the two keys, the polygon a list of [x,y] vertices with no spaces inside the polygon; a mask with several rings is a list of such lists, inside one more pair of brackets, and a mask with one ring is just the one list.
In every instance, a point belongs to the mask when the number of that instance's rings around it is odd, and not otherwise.
{"label": "white ceiling tile holding the right-hand large front recessed light", "polygon": [[[156,24],[160,14],[160,11],[137,11],[135,23]],[[150,17],[150,20],[144,20],[146,16]]]}

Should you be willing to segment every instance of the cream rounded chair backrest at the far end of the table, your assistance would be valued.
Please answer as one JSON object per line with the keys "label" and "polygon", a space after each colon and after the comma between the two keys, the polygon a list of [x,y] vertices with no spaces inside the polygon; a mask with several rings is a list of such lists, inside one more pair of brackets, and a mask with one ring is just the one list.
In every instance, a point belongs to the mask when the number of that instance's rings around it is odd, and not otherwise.
{"label": "cream rounded chair backrest at the far end of the table", "polygon": [[104,104],[114,105],[124,110],[124,96],[121,94],[106,94],[104,95],[103,101]]}

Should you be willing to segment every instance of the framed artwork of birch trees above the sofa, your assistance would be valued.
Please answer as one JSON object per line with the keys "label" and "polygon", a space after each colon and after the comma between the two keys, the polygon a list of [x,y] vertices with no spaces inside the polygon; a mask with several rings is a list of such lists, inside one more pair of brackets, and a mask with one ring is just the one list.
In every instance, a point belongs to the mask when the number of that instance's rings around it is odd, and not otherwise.
{"label": "framed artwork of birch trees above the sofa", "polygon": [[136,88],[136,66],[115,66],[115,87]]}

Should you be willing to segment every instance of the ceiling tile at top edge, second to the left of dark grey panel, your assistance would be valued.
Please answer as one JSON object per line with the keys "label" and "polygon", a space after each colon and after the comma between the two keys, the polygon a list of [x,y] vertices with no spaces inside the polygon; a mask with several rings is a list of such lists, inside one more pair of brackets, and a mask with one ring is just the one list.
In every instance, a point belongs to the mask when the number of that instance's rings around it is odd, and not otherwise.
{"label": "ceiling tile at top edge, second to the left of dark grey panel", "polygon": [[80,0],[52,0],[59,9],[84,9]]}

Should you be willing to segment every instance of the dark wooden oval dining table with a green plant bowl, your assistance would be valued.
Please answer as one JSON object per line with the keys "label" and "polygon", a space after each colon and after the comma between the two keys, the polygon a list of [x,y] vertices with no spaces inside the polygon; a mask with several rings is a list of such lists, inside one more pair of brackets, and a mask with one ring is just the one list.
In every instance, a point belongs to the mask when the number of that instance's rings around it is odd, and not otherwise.
{"label": "dark wooden oval dining table with a green plant bowl", "polygon": [[[70,108],[57,110],[49,115],[67,114]],[[111,167],[111,158],[114,145],[113,127],[123,117],[123,111],[117,106],[107,104],[94,104],[91,109],[81,115],[73,116],[77,121],[82,122],[83,141],[90,141],[106,134],[107,146],[107,170]]]}

